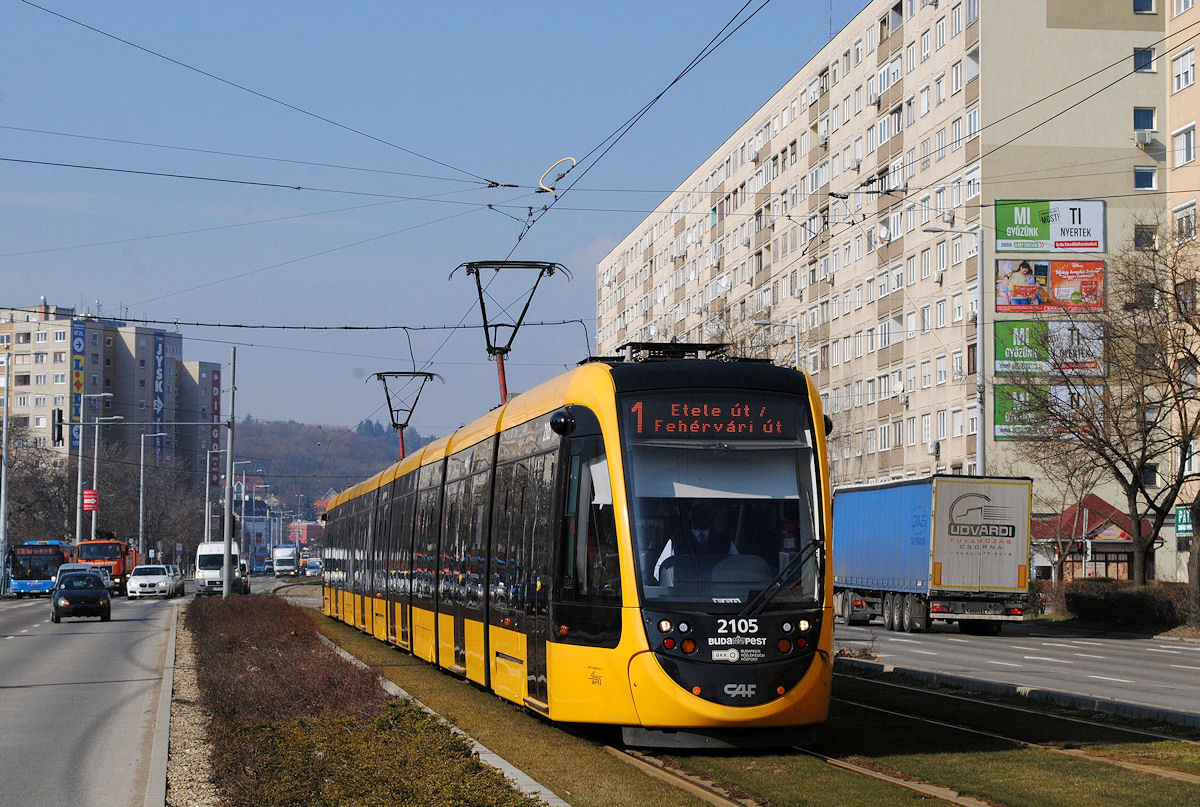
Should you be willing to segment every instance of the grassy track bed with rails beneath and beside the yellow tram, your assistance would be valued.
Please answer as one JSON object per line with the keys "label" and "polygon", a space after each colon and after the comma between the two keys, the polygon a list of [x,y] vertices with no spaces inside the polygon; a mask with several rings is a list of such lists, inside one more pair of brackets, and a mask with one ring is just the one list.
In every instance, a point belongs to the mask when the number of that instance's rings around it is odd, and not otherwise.
{"label": "grassy track bed with rails beneath and beside the yellow tram", "polygon": [[[349,626],[329,618],[320,618],[318,624],[329,639],[571,805],[700,803],[605,753],[602,733],[565,731]],[[1028,748],[1003,737],[920,723],[858,704],[918,713],[1022,742],[1081,748],[1098,755],[1111,754],[1128,761],[1150,761],[1192,771],[1196,747],[1186,742],[1129,736],[1112,727],[1063,722],[1057,717],[1062,710],[1048,715],[1006,712],[990,700],[971,695],[964,700],[947,700],[932,693],[881,687],[842,676],[836,680],[834,697],[829,722],[820,731],[815,751],[977,801],[1014,806],[1128,807],[1193,805],[1200,794],[1194,784],[1094,759]],[[931,801],[928,796],[839,770],[800,751],[706,752],[671,754],[662,759],[752,800],[748,803],[888,807]],[[1154,763],[1156,759],[1159,761]]]}

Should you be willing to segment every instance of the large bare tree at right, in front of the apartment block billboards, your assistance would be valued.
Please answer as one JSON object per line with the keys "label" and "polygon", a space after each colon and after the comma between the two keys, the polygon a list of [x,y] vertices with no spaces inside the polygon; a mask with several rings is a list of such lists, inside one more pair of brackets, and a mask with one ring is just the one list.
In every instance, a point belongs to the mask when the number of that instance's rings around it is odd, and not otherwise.
{"label": "large bare tree at right, in front of the apartment block billboards", "polygon": [[996,397],[1015,436],[1038,443],[1031,455],[1069,455],[1076,472],[1097,470],[1116,483],[1132,531],[1130,578],[1145,584],[1181,489],[1200,479],[1200,253],[1182,234],[1136,233],[1108,263],[1103,309],[1043,315],[1014,340],[1027,369]]}

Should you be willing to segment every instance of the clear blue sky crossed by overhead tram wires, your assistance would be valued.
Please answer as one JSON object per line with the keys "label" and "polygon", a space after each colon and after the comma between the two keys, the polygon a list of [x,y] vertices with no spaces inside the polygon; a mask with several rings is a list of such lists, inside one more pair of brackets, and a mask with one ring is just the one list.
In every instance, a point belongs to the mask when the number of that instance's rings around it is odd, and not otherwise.
{"label": "clear blue sky crossed by overhead tram wires", "polygon": [[[862,8],[834,6],[834,30]],[[740,8],[0,0],[0,304],[478,325],[474,285],[450,274],[511,252],[574,275],[542,281],[529,322],[587,325],[523,328],[520,391],[594,349],[596,261],[829,35],[828,0],[767,2],[596,160]],[[582,162],[559,189],[577,184],[518,244],[563,157]],[[502,273],[490,313],[532,280]],[[371,373],[414,369],[397,330],[180,329],[186,359],[238,346],[239,416],[386,423]],[[445,434],[498,402],[478,328],[410,333],[415,369],[445,379],[414,428]]]}

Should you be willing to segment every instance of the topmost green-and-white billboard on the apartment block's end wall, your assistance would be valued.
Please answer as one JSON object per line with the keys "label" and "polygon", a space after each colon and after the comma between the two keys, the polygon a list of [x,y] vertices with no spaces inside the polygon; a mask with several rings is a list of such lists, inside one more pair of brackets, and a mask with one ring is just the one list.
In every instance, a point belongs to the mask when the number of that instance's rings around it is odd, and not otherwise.
{"label": "topmost green-and-white billboard on the apartment block's end wall", "polygon": [[1104,252],[1102,199],[996,201],[997,252]]}

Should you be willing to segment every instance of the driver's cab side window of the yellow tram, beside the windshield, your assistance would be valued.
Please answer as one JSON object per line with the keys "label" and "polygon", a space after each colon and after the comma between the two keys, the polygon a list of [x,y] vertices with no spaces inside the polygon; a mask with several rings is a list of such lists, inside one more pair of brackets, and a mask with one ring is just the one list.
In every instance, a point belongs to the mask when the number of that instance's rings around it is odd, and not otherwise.
{"label": "driver's cab side window of the yellow tram, beside the windshield", "polygon": [[604,441],[571,442],[558,590],[563,600],[620,603],[620,561]]}

